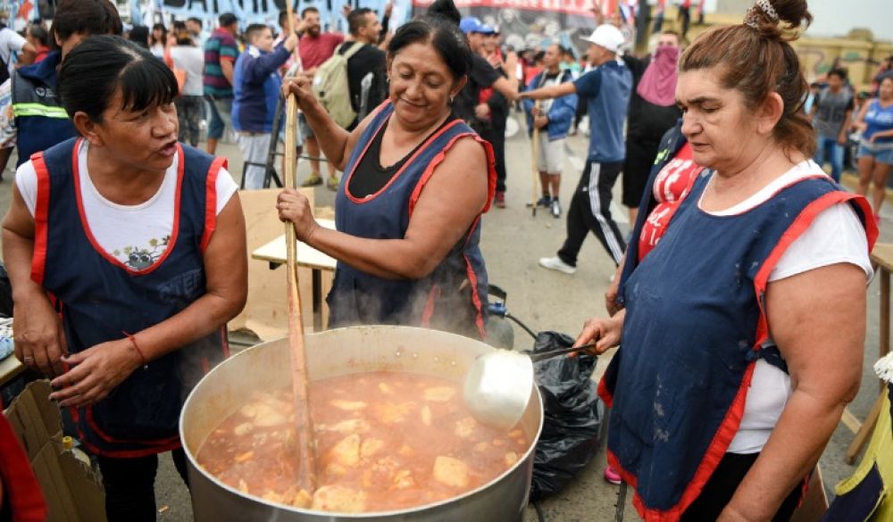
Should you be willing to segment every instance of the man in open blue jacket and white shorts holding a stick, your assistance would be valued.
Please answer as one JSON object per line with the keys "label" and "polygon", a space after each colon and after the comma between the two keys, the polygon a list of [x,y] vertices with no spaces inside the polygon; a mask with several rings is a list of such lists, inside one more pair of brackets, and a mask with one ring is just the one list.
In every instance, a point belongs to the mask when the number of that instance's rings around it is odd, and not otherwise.
{"label": "man in open blue jacket and white shorts holding a stick", "polygon": [[[561,47],[558,44],[547,46],[543,54],[545,70],[530,80],[527,90],[573,81],[572,71],[562,70],[561,62]],[[552,216],[558,219],[561,217],[558,189],[561,186],[561,170],[564,164],[564,141],[577,111],[577,95],[563,95],[555,100],[544,100],[538,107],[533,101],[524,100],[524,109],[527,111],[527,128],[531,137],[533,129],[539,129],[537,170],[542,197],[539,198],[537,206],[547,208]]]}

